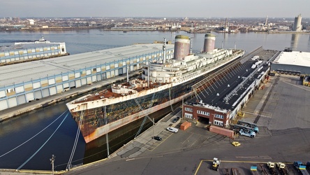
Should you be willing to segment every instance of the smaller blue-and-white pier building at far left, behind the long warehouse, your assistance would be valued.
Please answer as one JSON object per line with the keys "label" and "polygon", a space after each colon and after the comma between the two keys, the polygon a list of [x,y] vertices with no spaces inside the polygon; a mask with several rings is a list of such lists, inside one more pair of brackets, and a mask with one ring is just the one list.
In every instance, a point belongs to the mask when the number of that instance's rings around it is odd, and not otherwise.
{"label": "smaller blue-and-white pier building at far left, behind the long warehouse", "polygon": [[68,55],[66,52],[66,43],[51,43],[42,37],[40,40],[34,42],[0,46],[0,65],[63,55]]}

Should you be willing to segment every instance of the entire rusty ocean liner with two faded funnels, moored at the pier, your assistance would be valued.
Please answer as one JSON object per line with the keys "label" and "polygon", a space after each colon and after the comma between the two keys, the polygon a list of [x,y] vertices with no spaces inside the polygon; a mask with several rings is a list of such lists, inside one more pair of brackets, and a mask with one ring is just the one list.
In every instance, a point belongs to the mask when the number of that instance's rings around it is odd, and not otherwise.
{"label": "entire rusty ocean liner with two faded funnels, moored at the pier", "polygon": [[131,125],[161,109],[191,97],[191,86],[203,80],[207,73],[221,69],[244,55],[244,50],[214,48],[213,34],[205,34],[203,50],[191,53],[189,36],[175,36],[173,57],[165,57],[142,65],[139,78],[108,89],[87,94],[68,102],[66,106],[89,143],[125,125]]}

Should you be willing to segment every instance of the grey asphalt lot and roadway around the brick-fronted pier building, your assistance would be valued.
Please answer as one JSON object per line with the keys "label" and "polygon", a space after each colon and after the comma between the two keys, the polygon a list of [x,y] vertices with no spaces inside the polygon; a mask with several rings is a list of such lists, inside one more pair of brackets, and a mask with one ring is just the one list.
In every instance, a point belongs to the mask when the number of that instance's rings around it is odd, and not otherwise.
{"label": "grey asphalt lot and roadway around the brick-fronted pier building", "polygon": [[[117,156],[66,174],[226,174],[226,169],[231,174],[231,168],[251,174],[251,166],[260,173],[259,165],[267,168],[269,161],[286,162],[288,172],[298,174],[291,163],[310,160],[309,91],[297,76],[271,77],[243,109],[242,120],[256,121],[260,132],[253,139],[235,139],[241,146],[234,147],[229,138],[203,127],[192,125],[174,134],[164,126],[156,129],[163,140],[149,139],[147,149],[137,156]],[[163,120],[162,125],[168,127],[172,119]],[[214,157],[222,161],[219,172],[211,170]]]}

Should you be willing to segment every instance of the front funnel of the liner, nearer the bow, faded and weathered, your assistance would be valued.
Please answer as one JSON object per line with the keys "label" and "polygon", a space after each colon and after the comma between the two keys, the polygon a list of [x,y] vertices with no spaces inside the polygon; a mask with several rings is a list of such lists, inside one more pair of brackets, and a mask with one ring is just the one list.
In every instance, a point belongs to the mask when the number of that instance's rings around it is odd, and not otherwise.
{"label": "front funnel of the liner, nearer the bow, faded and weathered", "polygon": [[177,35],[175,36],[175,54],[174,59],[182,60],[189,55],[189,49],[191,46],[189,36]]}

